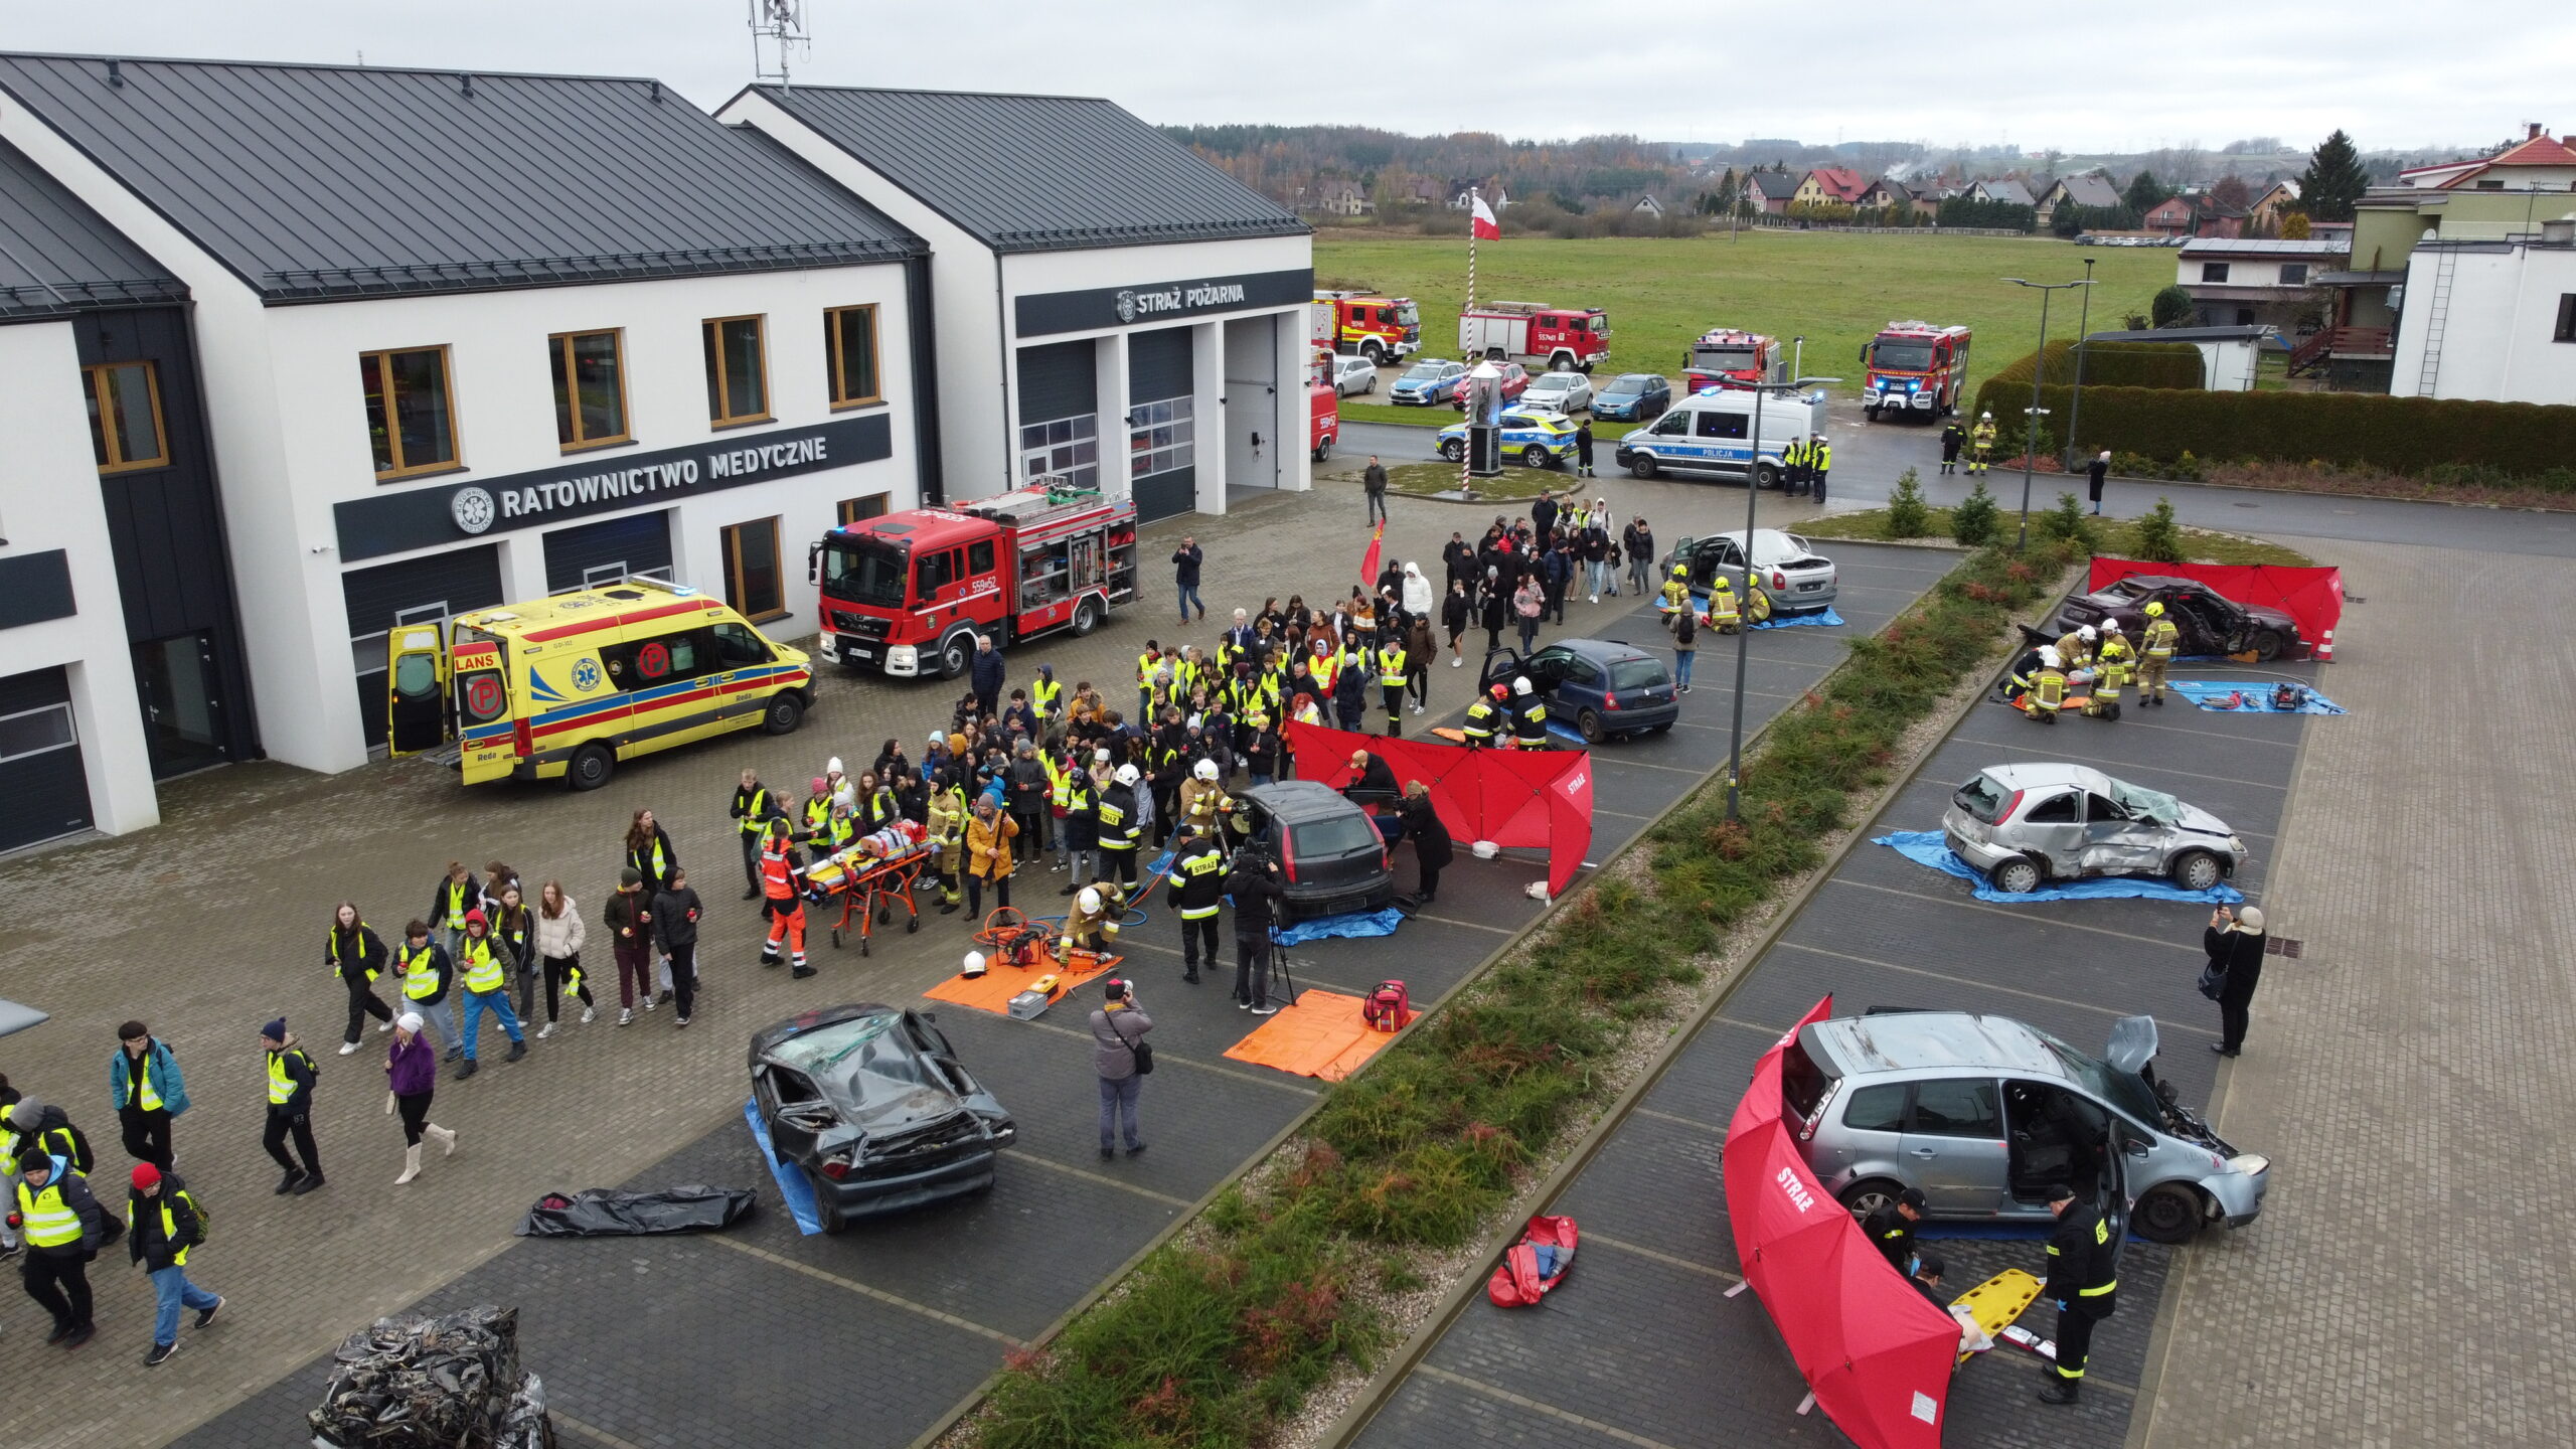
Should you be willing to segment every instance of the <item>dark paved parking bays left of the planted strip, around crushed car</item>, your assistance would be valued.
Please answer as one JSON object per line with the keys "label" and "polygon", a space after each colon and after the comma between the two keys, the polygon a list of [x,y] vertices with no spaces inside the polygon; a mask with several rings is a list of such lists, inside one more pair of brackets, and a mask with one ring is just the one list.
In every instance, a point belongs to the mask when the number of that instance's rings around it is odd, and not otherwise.
{"label": "dark paved parking bays left of the planted strip, around crushed car", "polygon": [[[1950,562],[1940,552],[1873,547],[1844,547],[1834,557],[1847,627],[1752,634],[1747,727],[1798,699],[1842,657],[1844,639],[1883,627]],[[1605,601],[1587,632],[1662,642],[1651,608],[1620,603],[1631,608],[1610,614]],[[1718,668],[1734,660],[1726,645],[1710,650],[1677,730],[1595,753],[1592,859],[1607,859],[1726,761],[1731,676]],[[1468,670],[1455,673],[1466,678]],[[1360,995],[1401,975],[1417,998],[1432,998],[1538,913],[1522,887],[1543,874],[1538,859],[1461,856],[1440,882],[1437,908],[1394,938],[1296,946],[1296,982]],[[1023,897],[1038,902],[1036,910],[1061,905],[1054,895],[1061,877],[1023,874],[1023,882],[1036,887]],[[1412,882],[1401,851],[1399,882]],[[935,985],[966,949],[961,918],[933,918],[922,936],[878,941],[886,944],[876,957],[884,967],[871,962],[863,975],[876,982],[871,993],[889,1000]],[[1090,993],[1036,1024],[930,1003],[963,1060],[1020,1119],[1020,1142],[989,1194],[840,1238],[801,1238],[783,1212],[762,1212],[742,1230],[703,1240],[518,1243],[422,1302],[520,1302],[528,1361],[549,1377],[569,1421],[595,1436],[806,1441],[817,1403],[832,1403],[835,1444],[912,1444],[961,1405],[1007,1348],[1056,1325],[1316,1098],[1306,1078],[1224,1057],[1249,1018],[1229,1006],[1224,985],[1180,982],[1177,920],[1159,902],[1121,944],[1128,946],[1123,975],[1139,982],[1154,1016],[1159,1070],[1144,1093],[1146,1155],[1110,1163],[1092,1150],[1097,1096],[1082,1029]],[[829,946],[819,949],[829,957]],[[817,985],[835,982],[850,964],[850,951],[832,957]],[[762,1196],[775,1199],[739,1116],[698,1134],[631,1186],[672,1181],[760,1183]],[[546,1292],[526,1284],[546,1284]],[[289,1441],[322,1372],[317,1361],[283,1374],[185,1444]],[[809,1377],[811,1395],[799,1390]]]}

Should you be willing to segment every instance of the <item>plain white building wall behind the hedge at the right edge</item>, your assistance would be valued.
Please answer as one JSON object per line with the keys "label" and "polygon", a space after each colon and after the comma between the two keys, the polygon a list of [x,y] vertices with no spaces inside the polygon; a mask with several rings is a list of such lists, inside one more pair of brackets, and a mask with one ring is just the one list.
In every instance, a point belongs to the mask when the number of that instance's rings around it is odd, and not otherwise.
{"label": "plain white building wall behind the hedge at the right edge", "polygon": [[2537,235],[2416,242],[2388,392],[2576,405],[2576,206]]}

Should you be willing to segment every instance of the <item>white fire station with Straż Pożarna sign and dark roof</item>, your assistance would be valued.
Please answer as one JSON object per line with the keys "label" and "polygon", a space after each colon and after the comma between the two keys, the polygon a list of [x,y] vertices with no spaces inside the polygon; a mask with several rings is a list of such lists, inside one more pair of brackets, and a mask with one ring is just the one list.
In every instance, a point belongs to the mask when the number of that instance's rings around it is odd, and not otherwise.
{"label": "white fire station with Stra\u017c Po\u017carna sign and dark roof", "polygon": [[1309,487],[1314,245],[1257,191],[1092,98],[755,85],[719,119],[930,245],[951,498]]}

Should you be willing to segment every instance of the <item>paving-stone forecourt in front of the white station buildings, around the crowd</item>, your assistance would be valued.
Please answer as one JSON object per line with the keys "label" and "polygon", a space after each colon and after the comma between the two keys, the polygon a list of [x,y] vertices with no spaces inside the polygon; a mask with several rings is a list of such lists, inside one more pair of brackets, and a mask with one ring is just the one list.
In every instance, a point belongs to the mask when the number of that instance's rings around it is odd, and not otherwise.
{"label": "paving-stone forecourt in front of the white station buildings, around the crowd", "polygon": [[[1584,490],[1607,495],[1623,513],[1646,513],[1667,544],[1677,534],[1739,526],[1744,508],[1734,487],[1610,477]],[[1522,508],[1396,500],[1386,547],[1391,557],[1437,559],[1450,529],[1476,536],[1497,511]],[[1814,513],[1772,498],[1762,511],[1765,526]],[[1211,614],[1206,627],[1188,632],[1200,645],[1213,645],[1234,606],[1347,590],[1368,541],[1350,485],[1239,498],[1226,518],[1159,523],[1146,531],[1146,557],[1162,559],[1185,531],[1208,552],[1203,596]],[[1051,660],[1059,676],[1087,676],[1123,706],[1136,650],[1172,629],[1172,616],[1162,614],[1172,606],[1170,575],[1149,565],[1146,578],[1154,583],[1144,598],[1090,639],[1051,637],[1010,650],[1012,681]],[[1628,606],[1633,598],[1605,598],[1597,608],[1577,598],[1569,624],[1579,632],[1587,619]],[[1432,704],[1463,704],[1471,683],[1471,670],[1435,668]],[[28,1333],[41,1328],[41,1315],[10,1284],[0,1292],[0,1379],[41,1382],[46,1392],[10,1395],[0,1405],[0,1444],[165,1444],[309,1364],[376,1315],[430,1294],[446,1299],[443,1289],[456,1281],[507,1287],[515,1279],[487,1263],[515,1243],[510,1227],[538,1191],[636,1181],[739,1111],[742,1042],[752,1029],[819,998],[909,1000],[933,959],[945,972],[956,933],[927,928],[917,938],[881,936],[873,959],[832,954],[817,941],[824,977],[804,987],[791,987],[786,972],[752,967],[760,926],[752,905],[737,902],[739,853],[724,817],[734,773],[757,766],[773,786],[801,794],[827,755],[858,768],[886,737],[917,750],[933,724],[945,724],[958,694],[935,681],[829,673],[819,688],[819,709],[793,737],[734,735],[631,761],[595,794],[469,792],[428,761],[374,763],[343,776],[252,763],[165,784],[157,830],[0,861],[0,900],[8,902],[0,990],[54,1013],[0,1042],[0,1073],[72,1111],[98,1142],[103,1196],[121,1204],[129,1160],[116,1142],[106,1065],[118,1021],[152,1024],[178,1052],[196,1101],[175,1129],[178,1165],[219,1214],[216,1238],[191,1269],[229,1302],[216,1328],[183,1330],[185,1351],[144,1372],[149,1292],[121,1250],[90,1269],[100,1336],[75,1356]],[[564,1031],[531,1042],[523,1062],[502,1065],[500,1036],[487,1034],[484,1073],[471,1083],[440,1080],[433,1109],[433,1119],[464,1134],[464,1147],[453,1160],[433,1158],[422,1181],[397,1191],[402,1134],[381,1114],[384,1042],[368,1034],[358,1055],[335,1055],[345,1006],[319,959],[330,908],[353,897],[368,923],[394,933],[428,905],[448,859],[479,871],[500,856],[531,884],[562,879],[598,933],[618,838],[636,807],[659,812],[711,910],[701,1018],[677,1034],[665,1008],[618,1031],[608,982],[603,1006],[611,1011],[600,1021],[572,1026],[567,1016]],[[1054,900],[1043,895],[1041,910]],[[598,941],[585,959],[595,990],[613,977]],[[278,1013],[322,1065],[314,1129],[330,1186],[301,1199],[270,1196],[276,1168],[258,1145],[265,1106],[258,1026]],[[1139,1207],[1157,1222],[1167,1212]],[[500,1263],[513,1261],[518,1256]],[[760,1281],[778,1276],[765,1271]],[[647,1297],[600,1310],[665,1312]],[[690,1333],[732,1328],[703,1320]],[[64,1418],[67,1403],[80,1405],[77,1421]]]}

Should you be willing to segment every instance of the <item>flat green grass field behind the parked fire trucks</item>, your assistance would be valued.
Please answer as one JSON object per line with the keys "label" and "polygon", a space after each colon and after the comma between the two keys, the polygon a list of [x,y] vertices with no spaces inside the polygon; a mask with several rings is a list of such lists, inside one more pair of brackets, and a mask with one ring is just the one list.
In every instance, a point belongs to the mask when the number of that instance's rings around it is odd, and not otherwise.
{"label": "flat green grass field behind the parked fire trucks", "polygon": [[[1605,307],[1610,371],[1682,371],[1682,351],[1708,327],[1806,335],[1806,374],[1844,376],[1860,389],[1860,348],[1891,320],[1976,330],[1968,389],[2040,340],[2040,299],[2002,278],[2074,281],[2094,258],[2092,330],[2146,312],[2174,281],[2166,248],[2076,248],[2043,237],[1937,237],[1857,232],[1744,232],[1716,237],[1507,237],[1479,242],[1476,297]],[[1455,356],[1466,299],[1466,240],[1373,237],[1324,229],[1314,237],[1316,286],[1365,284],[1422,304],[1422,351]],[[2076,335],[2076,299],[2061,291],[2048,335]],[[1600,371],[1595,371],[1600,376]],[[1401,420],[1417,420],[1404,410]],[[1445,413],[1445,410],[1440,410]],[[1358,418],[1358,410],[1345,407]],[[1455,418],[1455,415],[1450,415]]]}

